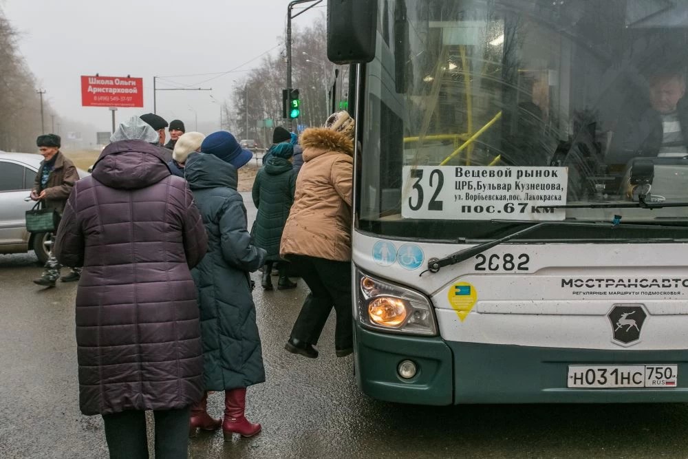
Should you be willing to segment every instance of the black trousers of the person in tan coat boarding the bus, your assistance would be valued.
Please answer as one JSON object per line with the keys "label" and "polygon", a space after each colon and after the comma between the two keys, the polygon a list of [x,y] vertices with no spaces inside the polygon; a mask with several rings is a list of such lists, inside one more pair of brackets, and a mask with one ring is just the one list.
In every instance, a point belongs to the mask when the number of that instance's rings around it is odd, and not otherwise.
{"label": "black trousers of the person in tan coat boarding the bus", "polygon": [[291,337],[306,343],[318,343],[327,317],[330,317],[330,311],[334,306],[337,319],[334,347],[336,349],[352,348],[354,346],[354,319],[351,262],[303,255],[292,255],[289,260],[310,288],[310,293],[303,302],[301,313],[292,328]]}

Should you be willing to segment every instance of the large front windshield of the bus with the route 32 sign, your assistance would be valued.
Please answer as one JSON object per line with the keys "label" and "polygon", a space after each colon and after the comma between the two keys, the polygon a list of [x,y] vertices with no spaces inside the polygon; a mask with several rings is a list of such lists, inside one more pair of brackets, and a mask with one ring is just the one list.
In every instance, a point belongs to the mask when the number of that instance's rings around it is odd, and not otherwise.
{"label": "large front windshield of the bus with the route 32 sign", "polygon": [[[688,202],[685,3],[379,0],[358,230],[455,240],[546,220],[687,224],[688,206],[614,207]],[[623,236],[553,228],[535,239]]]}

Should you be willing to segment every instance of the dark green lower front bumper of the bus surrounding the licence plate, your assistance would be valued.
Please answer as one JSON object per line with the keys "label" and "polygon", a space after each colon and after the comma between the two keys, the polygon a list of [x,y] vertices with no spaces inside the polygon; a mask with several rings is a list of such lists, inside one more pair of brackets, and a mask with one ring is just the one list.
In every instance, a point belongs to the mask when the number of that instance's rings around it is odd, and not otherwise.
{"label": "dark green lower front bumper of the bus surrounding the licence plate", "polygon": [[[373,332],[356,324],[356,378],[368,396],[418,405],[688,402],[688,350],[630,351],[460,343]],[[402,361],[418,368],[398,374]],[[568,365],[678,365],[677,387],[569,389]]]}

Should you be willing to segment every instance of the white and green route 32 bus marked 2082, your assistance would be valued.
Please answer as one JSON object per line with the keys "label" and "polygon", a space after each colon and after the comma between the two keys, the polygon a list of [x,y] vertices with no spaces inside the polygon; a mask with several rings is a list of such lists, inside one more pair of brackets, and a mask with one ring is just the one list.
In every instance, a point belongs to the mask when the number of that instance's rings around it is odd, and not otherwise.
{"label": "white and green route 32 bus marked 2082", "polygon": [[688,401],[688,1],[338,0],[383,401]]}

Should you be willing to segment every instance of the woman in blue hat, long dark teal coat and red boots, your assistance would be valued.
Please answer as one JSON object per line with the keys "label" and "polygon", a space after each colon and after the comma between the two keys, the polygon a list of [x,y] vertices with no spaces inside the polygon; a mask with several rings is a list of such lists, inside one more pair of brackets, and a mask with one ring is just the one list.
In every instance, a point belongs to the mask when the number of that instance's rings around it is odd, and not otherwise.
{"label": "woman in blue hat, long dark teal coat and red boots", "polygon": [[[208,253],[192,271],[201,309],[206,391],[225,392],[222,430],[257,434],[261,426],[246,420],[246,387],[265,381],[261,342],[249,273],[262,266],[265,250],[250,244],[246,208],[237,192],[237,168],[252,153],[228,132],[215,132],[191,153],[184,174],[208,233]],[[206,398],[192,409],[191,429],[219,427],[206,412]]]}

